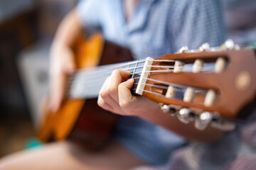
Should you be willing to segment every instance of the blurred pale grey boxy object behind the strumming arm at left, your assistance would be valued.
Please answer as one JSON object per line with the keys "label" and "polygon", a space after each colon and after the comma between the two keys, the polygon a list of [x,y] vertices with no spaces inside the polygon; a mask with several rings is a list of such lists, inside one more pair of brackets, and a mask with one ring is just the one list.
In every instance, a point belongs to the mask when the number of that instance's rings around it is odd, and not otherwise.
{"label": "blurred pale grey boxy object behind the strumming arm at left", "polygon": [[18,70],[34,126],[41,120],[41,104],[48,94],[50,42],[37,42],[18,56]]}

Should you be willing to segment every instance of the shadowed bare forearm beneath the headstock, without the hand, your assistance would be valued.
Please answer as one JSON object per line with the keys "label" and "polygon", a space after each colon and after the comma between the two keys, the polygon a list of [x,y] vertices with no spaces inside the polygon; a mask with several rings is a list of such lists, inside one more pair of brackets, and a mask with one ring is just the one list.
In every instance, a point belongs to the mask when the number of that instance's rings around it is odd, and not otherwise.
{"label": "shadowed bare forearm beneath the headstock, without the hand", "polygon": [[154,110],[137,114],[140,118],[148,120],[156,125],[161,125],[167,130],[171,130],[178,135],[185,137],[187,140],[195,140],[200,142],[210,142],[218,140],[223,132],[212,128],[210,125],[201,131],[194,127],[194,122],[185,124],[178,120],[177,116],[171,116],[169,113],[163,113],[160,107],[155,106]]}

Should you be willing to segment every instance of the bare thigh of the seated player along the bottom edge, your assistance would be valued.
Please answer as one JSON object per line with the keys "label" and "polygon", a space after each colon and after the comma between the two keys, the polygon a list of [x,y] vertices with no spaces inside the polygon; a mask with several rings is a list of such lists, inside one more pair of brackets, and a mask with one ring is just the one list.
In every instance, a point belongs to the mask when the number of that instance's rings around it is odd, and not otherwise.
{"label": "bare thigh of the seated player along the bottom edge", "polygon": [[38,149],[19,152],[0,160],[1,169],[131,169],[144,162],[127,149],[112,143],[102,152],[86,152],[73,142],[55,142]]}

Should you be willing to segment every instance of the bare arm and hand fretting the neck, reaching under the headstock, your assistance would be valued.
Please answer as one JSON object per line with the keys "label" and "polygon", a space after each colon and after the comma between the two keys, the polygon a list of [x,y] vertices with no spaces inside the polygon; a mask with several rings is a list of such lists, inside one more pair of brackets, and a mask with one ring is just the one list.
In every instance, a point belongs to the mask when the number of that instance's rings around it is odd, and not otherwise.
{"label": "bare arm and hand fretting the neck, reaching under the headstock", "polygon": [[222,136],[223,132],[210,126],[203,131],[196,130],[193,123],[184,124],[176,116],[163,113],[158,103],[144,96],[132,96],[130,89],[134,79],[122,82],[122,79],[128,78],[129,72],[115,70],[102,86],[98,105],[112,113],[134,115],[149,120],[188,140],[210,142]]}

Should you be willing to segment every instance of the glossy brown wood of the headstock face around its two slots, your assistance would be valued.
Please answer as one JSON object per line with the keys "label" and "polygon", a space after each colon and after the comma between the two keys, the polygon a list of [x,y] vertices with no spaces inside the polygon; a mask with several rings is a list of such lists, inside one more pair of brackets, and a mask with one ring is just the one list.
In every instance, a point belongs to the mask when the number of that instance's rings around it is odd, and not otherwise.
{"label": "glossy brown wood of the headstock face around its two slots", "polygon": [[[204,106],[202,103],[184,102],[178,98],[166,98],[149,92],[143,93],[152,101],[172,104],[185,108],[199,108],[204,111],[218,112],[224,117],[235,118],[238,112],[250,101],[253,101],[256,94],[256,60],[255,50],[228,50],[223,52],[195,52],[171,54],[159,57],[157,60],[181,60],[191,62],[196,59],[216,60],[218,57],[228,58],[228,67],[222,73],[215,72],[151,72],[150,79],[157,79],[174,84],[196,87],[200,89],[213,89],[218,91],[217,101],[213,106]],[[161,62],[154,62],[153,65],[162,65]],[[151,70],[156,70],[152,67]],[[244,89],[238,88],[238,79],[244,84],[242,73],[247,73],[250,83]],[[239,78],[240,77],[240,78]],[[154,84],[153,81],[146,81],[147,84]],[[146,86],[146,91],[151,91],[151,86]]]}

